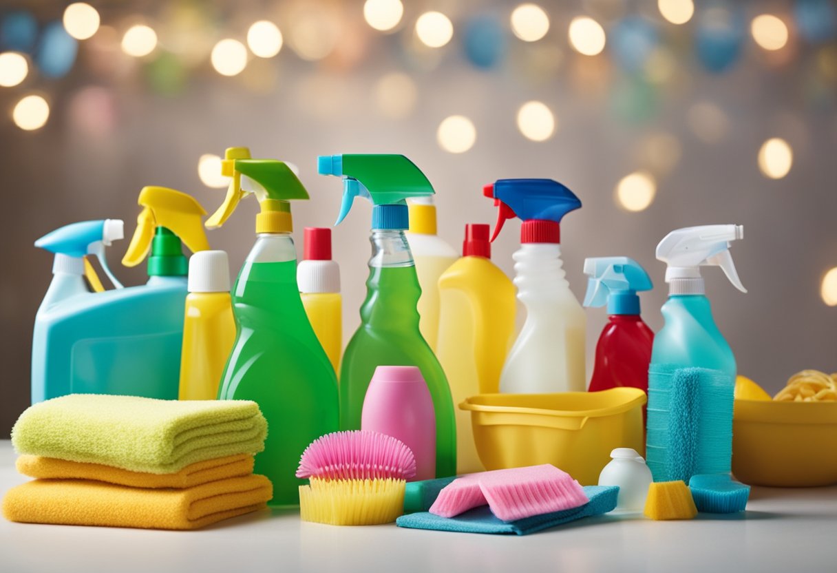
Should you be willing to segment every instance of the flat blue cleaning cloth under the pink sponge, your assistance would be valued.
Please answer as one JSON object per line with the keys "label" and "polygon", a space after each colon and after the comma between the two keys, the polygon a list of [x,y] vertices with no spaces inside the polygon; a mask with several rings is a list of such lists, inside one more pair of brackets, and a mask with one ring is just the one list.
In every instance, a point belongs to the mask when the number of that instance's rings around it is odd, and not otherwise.
{"label": "flat blue cleaning cloth under the pink sponge", "polygon": [[422,512],[402,515],[396,519],[395,523],[398,527],[411,529],[526,535],[566,524],[576,519],[613,511],[616,508],[616,498],[619,497],[619,488],[617,486],[585,486],[584,493],[587,494],[590,501],[581,507],[565,509],[552,514],[533,515],[516,521],[498,519],[491,513],[487,505],[483,505],[453,518],[443,518],[429,512]]}

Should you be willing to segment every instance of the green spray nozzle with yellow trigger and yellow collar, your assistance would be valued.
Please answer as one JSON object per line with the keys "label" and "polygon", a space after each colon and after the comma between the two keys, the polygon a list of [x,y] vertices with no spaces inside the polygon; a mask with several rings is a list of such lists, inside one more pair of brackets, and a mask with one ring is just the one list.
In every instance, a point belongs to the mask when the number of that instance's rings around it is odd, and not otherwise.
{"label": "green spray nozzle with yellow trigger and yellow collar", "polygon": [[229,147],[224,152],[221,174],[232,180],[223,204],[207,219],[207,229],[223,225],[239,201],[254,194],[261,208],[256,215],[256,233],[290,233],[293,222],[288,201],[309,199],[305,186],[285,162],[253,159],[247,147]]}

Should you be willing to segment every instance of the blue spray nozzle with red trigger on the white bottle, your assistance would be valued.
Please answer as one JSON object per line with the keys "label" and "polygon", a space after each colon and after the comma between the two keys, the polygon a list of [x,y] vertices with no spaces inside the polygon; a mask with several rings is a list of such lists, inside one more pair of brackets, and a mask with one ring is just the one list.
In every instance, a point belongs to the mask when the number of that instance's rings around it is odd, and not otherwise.
{"label": "blue spray nozzle with red trigger on the white bottle", "polygon": [[492,241],[500,235],[506,219],[560,223],[565,214],[581,208],[581,200],[552,179],[498,179],[486,185],[483,194],[500,208]]}

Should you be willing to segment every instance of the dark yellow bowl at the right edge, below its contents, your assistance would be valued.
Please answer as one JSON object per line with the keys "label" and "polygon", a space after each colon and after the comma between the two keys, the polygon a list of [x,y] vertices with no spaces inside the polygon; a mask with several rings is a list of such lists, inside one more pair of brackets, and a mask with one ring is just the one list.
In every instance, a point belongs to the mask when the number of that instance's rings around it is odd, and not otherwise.
{"label": "dark yellow bowl at the right edge, below its contents", "polygon": [[837,483],[837,402],[735,400],[732,473],[751,485]]}

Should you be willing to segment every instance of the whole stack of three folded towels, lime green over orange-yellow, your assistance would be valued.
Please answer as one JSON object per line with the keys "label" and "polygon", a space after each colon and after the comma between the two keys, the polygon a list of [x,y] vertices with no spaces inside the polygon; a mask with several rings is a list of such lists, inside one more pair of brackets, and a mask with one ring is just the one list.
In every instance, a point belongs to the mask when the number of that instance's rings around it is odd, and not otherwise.
{"label": "whole stack of three folded towels, lime green over orange-yellow", "polygon": [[36,478],[3,498],[11,521],[198,529],[273,496],[253,474],[267,422],[247,400],[68,395],[24,411],[12,430],[18,471]]}

